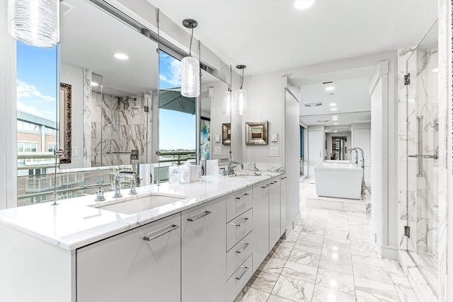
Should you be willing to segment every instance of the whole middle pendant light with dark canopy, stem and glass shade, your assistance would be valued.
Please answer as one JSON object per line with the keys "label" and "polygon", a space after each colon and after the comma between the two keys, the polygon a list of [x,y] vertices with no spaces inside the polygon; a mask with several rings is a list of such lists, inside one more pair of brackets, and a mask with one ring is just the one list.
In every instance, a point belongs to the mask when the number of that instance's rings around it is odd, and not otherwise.
{"label": "whole middle pendant light with dark canopy, stem and glass shade", "polygon": [[189,56],[181,60],[181,95],[187,98],[196,98],[200,95],[200,61],[192,57],[193,29],[197,27],[197,21],[184,19],[183,25],[190,28]]}

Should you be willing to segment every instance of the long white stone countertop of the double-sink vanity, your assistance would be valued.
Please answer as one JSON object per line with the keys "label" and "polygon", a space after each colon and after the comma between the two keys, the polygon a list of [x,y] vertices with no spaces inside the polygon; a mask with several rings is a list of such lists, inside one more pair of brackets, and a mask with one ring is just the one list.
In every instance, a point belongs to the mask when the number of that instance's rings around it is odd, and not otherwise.
{"label": "long white stone countertop of the double-sink vanity", "polygon": [[[94,195],[33,204],[0,211],[0,223],[40,238],[65,250],[74,250],[118,233],[137,228],[151,221],[176,214],[198,204],[209,202],[231,192],[250,187],[258,182],[280,175],[280,172],[264,172],[260,176],[236,177],[207,175],[198,182],[185,185],[147,185],[137,187],[137,195],[129,195],[129,189],[121,190],[123,197],[113,199],[113,192],[105,192],[105,202],[95,202]],[[185,199],[137,214],[120,214],[114,211],[90,207],[113,200],[134,199],[151,193],[180,195]]]}

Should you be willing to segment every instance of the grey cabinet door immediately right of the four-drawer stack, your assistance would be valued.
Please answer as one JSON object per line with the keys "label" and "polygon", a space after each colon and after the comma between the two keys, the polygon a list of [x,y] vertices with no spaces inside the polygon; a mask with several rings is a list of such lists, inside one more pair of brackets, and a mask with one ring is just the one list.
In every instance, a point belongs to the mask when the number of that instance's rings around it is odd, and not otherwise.
{"label": "grey cabinet door immediately right of the four-drawer stack", "polygon": [[269,253],[269,181],[253,185],[253,272]]}

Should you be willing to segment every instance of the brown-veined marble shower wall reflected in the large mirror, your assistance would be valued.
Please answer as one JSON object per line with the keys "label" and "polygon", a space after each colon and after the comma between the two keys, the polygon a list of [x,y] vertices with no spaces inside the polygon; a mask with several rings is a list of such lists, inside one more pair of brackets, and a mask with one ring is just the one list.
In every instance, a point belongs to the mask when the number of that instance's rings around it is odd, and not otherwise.
{"label": "brown-veined marble shower wall reflected in the large mirror", "polygon": [[[86,72],[88,76],[91,76],[89,71]],[[90,89],[84,97],[84,103],[85,166],[151,162],[151,92],[123,98]],[[131,160],[132,149],[139,151],[138,160]]]}

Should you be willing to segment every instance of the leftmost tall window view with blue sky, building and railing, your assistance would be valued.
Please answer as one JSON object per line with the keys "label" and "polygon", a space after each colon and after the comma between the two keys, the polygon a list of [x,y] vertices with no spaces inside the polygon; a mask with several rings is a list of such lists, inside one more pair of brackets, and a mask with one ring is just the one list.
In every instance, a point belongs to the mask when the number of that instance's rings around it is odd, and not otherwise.
{"label": "leftmost tall window view with blue sky, building and railing", "polygon": [[[57,47],[35,47],[18,41],[17,52],[17,194],[18,206],[45,202],[55,171],[57,147]],[[39,158],[30,156],[39,153]],[[39,187],[29,196],[29,187]],[[35,189],[34,189],[35,190]]]}

